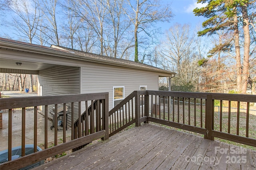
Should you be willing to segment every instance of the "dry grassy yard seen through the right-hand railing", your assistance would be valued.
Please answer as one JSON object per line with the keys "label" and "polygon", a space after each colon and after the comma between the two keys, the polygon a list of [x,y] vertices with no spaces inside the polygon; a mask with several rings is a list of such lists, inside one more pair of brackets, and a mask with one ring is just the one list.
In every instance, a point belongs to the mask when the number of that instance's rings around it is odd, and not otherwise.
{"label": "dry grassy yard seen through the right-hand railing", "polygon": [[[231,103],[232,104],[232,103]],[[231,107],[237,107],[236,104],[232,104]],[[241,106],[240,108],[243,108],[244,106]],[[256,110],[254,107],[250,107],[252,110]],[[252,139],[256,139],[256,111],[251,111],[249,112],[249,124],[248,124],[248,137]],[[228,133],[228,108],[223,108],[222,110],[222,132]],[[205,127],[205,106],[202,108],[202,122],[201,122],[201,111],[200,111],[200,106],[196,106],[196,112],[194,109],[194,105],[190,106],[190,113],[188,106],[180,105],[179,107],[179,114],[178,114],[178,107],[175,105],[174,107],[174,115],[172,114],[172,107],[170,107],[169,115],[168,115],[168,107],[165,108],[165,113],[163,111],[163,107],[161,107],[161,114],[160,115],[155,115],[153,114],[152,117],[157,117],[160,119],[165,119],[165,120],[173,120],[174,116],[174,122],[179,122],[179,123],[184,123],[186,125],[192,125],[196,127]],[[219,107],[214,107],[214,130],[220,131],[220,120],[221,120],[221,114],[219,111]],[[238,123],[239,120],[239,123]],[[231,109],[230,111],[230,134],[236,135],[237,134],[237,127],[239,127],[238,135],[242,137],[246,137],[246,111],[240,110],[239,115],[237,114],[237,109]],[[174,128],[174,127],[170,127]],[[176,128],[174,128],[176,129]],[[178,129],[179,131],[184,131],[187,133],[194,133],[182,129]],[[203,136],[202,134],[199,133],[194,133],[196,135]],[[218,138],[216,138],[218,139]],[[230,143],[232,145],[238,145],[242,146],[244,148],[248,149],[253,149],[256,150],[255,147],[240,144],[240,143],[235,143],[232,141],[227,141],[224,139],[218,139],[219,141],[225,142],[225,143]]]}

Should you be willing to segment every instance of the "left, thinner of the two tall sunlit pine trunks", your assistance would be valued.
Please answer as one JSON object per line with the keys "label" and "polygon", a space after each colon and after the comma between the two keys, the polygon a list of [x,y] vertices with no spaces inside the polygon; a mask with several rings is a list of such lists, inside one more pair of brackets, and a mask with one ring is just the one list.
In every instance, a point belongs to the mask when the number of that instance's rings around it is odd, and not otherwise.
{"label": "left, thinner of the two tall sunlit pine trunks", "polygon": [[234,41],[236,50],[236,87],[237,91],[241,92],[242,88],[242,67],[241,67],[241,55],[239,46],[239,31],[238,31],[238,20],[237,15],[234,15]]}

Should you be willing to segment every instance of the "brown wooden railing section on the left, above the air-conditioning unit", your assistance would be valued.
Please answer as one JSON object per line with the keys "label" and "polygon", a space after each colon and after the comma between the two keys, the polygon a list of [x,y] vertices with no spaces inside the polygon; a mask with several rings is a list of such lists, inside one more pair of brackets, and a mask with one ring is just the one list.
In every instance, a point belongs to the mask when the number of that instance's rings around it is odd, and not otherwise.
{"label": "brown wooden railing section on the left, above the air-conditioning unit", "polygon": [[[72,139],[71,141],[66,141],[66,128],[63,128],[63,135],[61,143],[58,141],[58,128],[54,128],[54,146],[48,146],[48,117],[44,117],[44,150],[36,152],[36,147],[38,145],[38,106],[44,107],[44,115],[48,115],[48,105],[55,105],[55,113],[58,113],[58,104],[63,105],[63,108],[66,108],[66,105],[71,106],[71,117],[72,124],[74,124],[74,114],[77,114],[79,119],[81,120],[81,107],[82,103],[85,105],[89,102],[99,103],[102,102],[102,107],[97,107],[97,111],[93,111],[91,115],[95,115],[99,117],[100,113],[102,116],[101,124],[95,125],[92,123],[91,126],[99,127],[96,132],[92,132],[90,134],[82,135],[81,130],[78,130],[77,134],[74,134],[74,126],[72,126]],[[78,103],[79,113],[75,113],[74,103]],[[25,144],[26,144],[26,107],[34,107],[34,150],[35,153],[29,154],[25,156]],[[86,105],[87,106],[87,105]],[[86,107],[85,106],[85,107]],[[21,127],[21,147],[22,153],[20,158],[12,160],[12,141],[18,140],[12,136],[12,109],[14,108],[22,108],[22,127]],[[88,107],[86,107],[88,108]],[[50,156],[54,156],[56,154],[65,152],[66,150],[74,149],[76,147],[80,147],[86,143],[90,143],[96,139],[108,139],[108,93],[96,93],[96,94],[72,94],[72,95],[60,95],[60,96],[40,96],[40,97],[26,97],[26,98],[0,98],[0,110],[8,109],[8,162],[4,162],[0,164],[0,169],[20,169],[27,165],[34,164],[35,162],[39,162],[41,160],[45,160]],[[92,109],[94,110],[94,109]],[[79,116],[80,115],[80,116]],[[54,127],[58,127],[58,117],[57,114],[54,115]],[[94,117],[94,116],[92,116]],[[63,125],[66,125],[67,117],[66,117],[66,109],[64,109],[63,113]],[[81,128],[80,128],[81,129]],[[94,129],[94,128],[92,128]],[[60,132],[60,131],[59,131]],[[75,137],[77,139],[75,139]]]}

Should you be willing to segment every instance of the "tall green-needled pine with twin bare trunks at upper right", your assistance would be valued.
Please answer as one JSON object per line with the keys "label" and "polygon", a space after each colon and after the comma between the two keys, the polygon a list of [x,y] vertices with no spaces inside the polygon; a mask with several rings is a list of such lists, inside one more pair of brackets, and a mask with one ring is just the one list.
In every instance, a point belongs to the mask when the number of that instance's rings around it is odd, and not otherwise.
{"label": "tall green-needled pine with twin bare trunks at upper right", "polygon": [[[194,9],[196,16],[207,18],[202,23],[204,28],[198,32],[198,36],[212,35],[218,30],[232,31],[234,33],[234,44],[236,53],[236,74],[237,90],[246,93],[247,81],[249,76],[249,57],[250,57],[250,33],[248,6],[255,3],[253,0],[198,0],[198,3],[207,3],[207,6]],[[241,18],[241,20],[238,20]],[[238,27],[242,21],[242,29]],[[242,37],[239,33],[243,32]],[[240,41],[243,41],[243,62],[241,64]],[[225,46],[223,46],[225,47]],[[222,51],[223,49],[218,48]]]}

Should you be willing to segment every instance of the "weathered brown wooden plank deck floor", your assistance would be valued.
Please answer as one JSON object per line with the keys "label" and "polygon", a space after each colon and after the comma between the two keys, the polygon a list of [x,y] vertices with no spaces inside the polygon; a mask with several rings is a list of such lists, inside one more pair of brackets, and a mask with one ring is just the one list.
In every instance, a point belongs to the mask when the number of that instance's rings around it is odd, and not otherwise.
{"label": "weathered brown wooden plank deck floor", "polygon": [[36,169],[253,170],[255,165],[255,150],[144,124]]}

